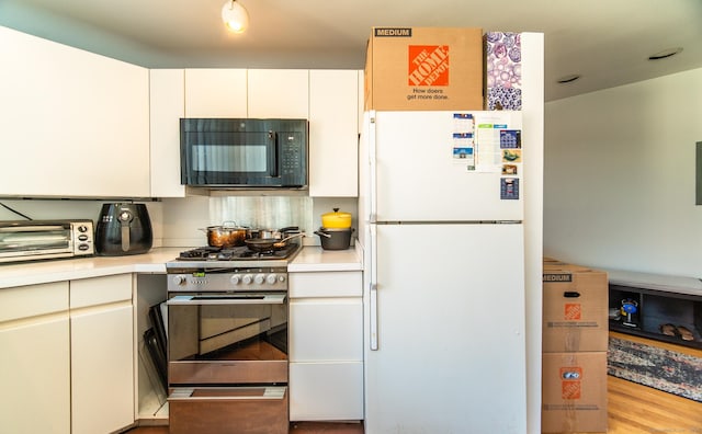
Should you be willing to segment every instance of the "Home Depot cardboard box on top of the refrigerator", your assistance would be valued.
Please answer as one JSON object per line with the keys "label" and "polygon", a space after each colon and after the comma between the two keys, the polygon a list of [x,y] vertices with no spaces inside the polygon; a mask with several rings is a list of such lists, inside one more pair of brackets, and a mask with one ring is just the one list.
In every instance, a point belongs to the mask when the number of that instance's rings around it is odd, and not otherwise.
{"label": "Home Depot cardboard box on top of the refrigerator", "polygon": [[373,27],[365,110],[483,110],[483,30]]}

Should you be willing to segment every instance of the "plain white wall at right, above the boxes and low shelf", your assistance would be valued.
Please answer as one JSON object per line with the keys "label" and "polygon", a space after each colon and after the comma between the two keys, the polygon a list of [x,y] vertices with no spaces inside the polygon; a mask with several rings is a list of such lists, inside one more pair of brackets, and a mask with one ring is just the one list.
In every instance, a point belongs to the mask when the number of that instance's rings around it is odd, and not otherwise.
{"label": "plain white wall at right, above the boxes and low shelf", "polygon": [[544,254],[702,276],[697,141],[702,69],[547,103]]}

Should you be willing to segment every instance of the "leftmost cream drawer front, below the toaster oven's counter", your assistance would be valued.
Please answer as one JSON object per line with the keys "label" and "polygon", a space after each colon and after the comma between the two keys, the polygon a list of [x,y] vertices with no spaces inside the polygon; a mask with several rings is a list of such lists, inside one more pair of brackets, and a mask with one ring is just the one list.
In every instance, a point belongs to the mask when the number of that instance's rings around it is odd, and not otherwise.
{"label": "leftmost cream drawer front, below the toaster oven's counter", "polygon": [[68,282],[0,289],[0,322],[68,310]]}

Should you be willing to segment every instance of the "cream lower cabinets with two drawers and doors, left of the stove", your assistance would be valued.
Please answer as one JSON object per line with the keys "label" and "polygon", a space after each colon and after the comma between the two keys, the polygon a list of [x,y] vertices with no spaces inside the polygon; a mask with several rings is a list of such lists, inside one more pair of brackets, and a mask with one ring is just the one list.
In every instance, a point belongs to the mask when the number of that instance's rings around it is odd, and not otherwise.
{"label": "cream lower cabinets with two drawers and doors, left of the stove", "polygon": [[0,289],[0,432],[134,423],[132,274]]}

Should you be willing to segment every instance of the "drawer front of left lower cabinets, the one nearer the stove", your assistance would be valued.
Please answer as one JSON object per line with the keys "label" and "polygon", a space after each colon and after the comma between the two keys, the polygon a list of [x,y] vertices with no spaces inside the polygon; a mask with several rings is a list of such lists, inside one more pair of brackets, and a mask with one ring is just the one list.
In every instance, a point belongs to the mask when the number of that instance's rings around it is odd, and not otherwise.
{"label": "drawer front of left lower cabinets, the one nearer the stove", "polygon": [[132,299],[132,274],[70,281],[71,309]]}

